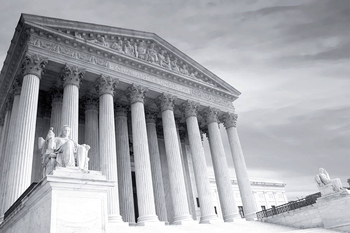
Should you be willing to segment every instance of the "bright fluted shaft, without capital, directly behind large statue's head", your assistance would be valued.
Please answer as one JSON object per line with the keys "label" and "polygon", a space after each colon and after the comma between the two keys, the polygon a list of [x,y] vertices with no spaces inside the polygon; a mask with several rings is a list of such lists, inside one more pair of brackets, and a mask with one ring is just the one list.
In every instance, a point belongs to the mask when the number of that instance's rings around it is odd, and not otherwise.
{"label": "bright fluted shaft, without capital, directly behind large statue's head", "polygon": [[[73,84],[67,84],[63,90],[61,127],[69,125],[72,129],[71,138],[78,141],[78,111],[79,88]],[[61,129],[60,129],[61,130]]]}

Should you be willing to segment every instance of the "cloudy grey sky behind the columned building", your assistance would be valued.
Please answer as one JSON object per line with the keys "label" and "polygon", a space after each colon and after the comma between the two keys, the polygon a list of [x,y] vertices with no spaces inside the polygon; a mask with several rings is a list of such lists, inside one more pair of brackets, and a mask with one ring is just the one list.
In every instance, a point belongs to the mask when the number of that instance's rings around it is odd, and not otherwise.
{"label": "cloudy grey sky behind the columned building", "polygon": [[242,93],[251,177],[282,180],[289,200],[318,192],[320,167],[349,186],[348,0],[3,1],[1,61],[21,13],[155,32]]}

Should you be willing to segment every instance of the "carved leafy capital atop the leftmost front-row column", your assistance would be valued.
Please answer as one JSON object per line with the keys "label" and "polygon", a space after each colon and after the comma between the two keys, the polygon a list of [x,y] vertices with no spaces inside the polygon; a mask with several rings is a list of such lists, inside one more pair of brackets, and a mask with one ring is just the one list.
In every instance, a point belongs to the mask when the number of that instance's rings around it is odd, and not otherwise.
{"label": "carved leafy capital atop the leftmost front-row column", "polygon": [[47,65],[48,58],[40,57],[37,54],[26,53],[22,63],[23,76],[26,74],[35,74],[39,78],[45,72],[44,68]]}

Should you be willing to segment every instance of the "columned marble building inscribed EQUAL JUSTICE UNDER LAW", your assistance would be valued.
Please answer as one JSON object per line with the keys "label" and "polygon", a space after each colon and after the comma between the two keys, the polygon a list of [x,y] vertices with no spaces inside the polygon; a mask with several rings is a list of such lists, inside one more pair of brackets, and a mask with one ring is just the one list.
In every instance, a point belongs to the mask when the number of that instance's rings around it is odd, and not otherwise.
{"label": "columned marble building inscribed EQUAL JUSTICE UNDER LAW", "polygon": [[[240,92],[156,34],[22,14],[0,81],[2,225],[29,185],[49,176],[40,144],[63,125],[91,147],[88,169],[117,181],[106,195],[108,223],[212,223],[220,221],[214,202],[223,221],[241,220],[235,198],[246,220],[260,211],[236,130],[232,102]],[[229,139],[238,195],[218,123]]]}

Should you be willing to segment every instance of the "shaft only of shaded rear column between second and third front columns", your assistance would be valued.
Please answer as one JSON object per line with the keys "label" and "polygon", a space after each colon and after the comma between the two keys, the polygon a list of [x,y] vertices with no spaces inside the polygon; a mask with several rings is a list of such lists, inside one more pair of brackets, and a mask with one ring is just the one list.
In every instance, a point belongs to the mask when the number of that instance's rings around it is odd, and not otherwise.
{"label": "shaft only of shaded rear column between second and third front columns", "polygon": [[100,171],[98,111],[96,109],[85,110],[85,144],[91,147],[89,170]]}

